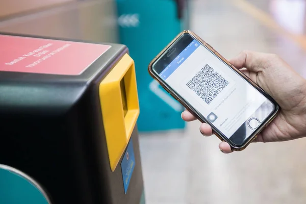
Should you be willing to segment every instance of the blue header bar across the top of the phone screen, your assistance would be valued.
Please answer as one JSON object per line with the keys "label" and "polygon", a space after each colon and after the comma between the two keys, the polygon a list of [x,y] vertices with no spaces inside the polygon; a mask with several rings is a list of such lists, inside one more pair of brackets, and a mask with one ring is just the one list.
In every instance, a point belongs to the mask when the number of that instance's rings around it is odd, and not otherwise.
{"label": "blue header bar across the top of the phone screen", "polygon": [[159,75],[166,80],[183,62],[199,47],[200,43],[193,40]]}

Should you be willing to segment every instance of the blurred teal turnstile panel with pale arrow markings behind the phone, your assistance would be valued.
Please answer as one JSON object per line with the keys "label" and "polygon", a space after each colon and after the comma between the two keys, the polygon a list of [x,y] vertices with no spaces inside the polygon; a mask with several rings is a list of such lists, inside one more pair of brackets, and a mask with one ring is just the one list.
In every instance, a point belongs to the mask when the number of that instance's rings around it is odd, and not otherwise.
{"label": "blurred teal turnstile panel with pale arrow markings behind the phone", "polygon": [[184,108],[148,74],[150,61],[182,30],[185,0],[117,0],[120,43],[135,61],[140,132],[184,129]]}

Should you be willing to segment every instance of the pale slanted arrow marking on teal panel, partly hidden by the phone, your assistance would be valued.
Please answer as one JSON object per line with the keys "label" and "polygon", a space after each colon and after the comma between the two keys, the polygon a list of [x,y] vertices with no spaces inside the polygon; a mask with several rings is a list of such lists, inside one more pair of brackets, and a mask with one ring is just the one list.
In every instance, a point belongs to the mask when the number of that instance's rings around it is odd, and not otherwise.
{"label": "pale slanted arrow marking on teal panel, partly hidden by the phone", "polygon": [[183,111],[182,105],[177,102],[174,98],[166,94],[161,88],[159,88],[159,83],[153,80],[149,84],[149,89],[155,93],[158,97],[160,97],[166,104],[168,104],[172,109],[177,112]]}

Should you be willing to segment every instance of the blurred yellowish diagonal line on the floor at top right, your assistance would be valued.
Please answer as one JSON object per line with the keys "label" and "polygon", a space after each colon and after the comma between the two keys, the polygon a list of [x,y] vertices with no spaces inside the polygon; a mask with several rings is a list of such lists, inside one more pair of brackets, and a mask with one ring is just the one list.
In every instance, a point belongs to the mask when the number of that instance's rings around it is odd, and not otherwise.
{"label": "blurred yellowish diagonal line on the floor at top right", "polygon": [[251,3],[248,3],[245,0],[234,0],[234,5],[239,8],[241,11],[247,13],[248,15],[251,15],[253,18],[259,20],[261,23],[266,25],[266,27],[273,29],[277,31],[278,33],[281,33],[282,35],[290,38],[294,42],[296,42],[298,45],[300,45],[304,50],[306,50],[306,38],[302,35],[296,35],[293,33],[290,33],[281,25],[279,25],[275,20],[267,14],[265,11],[257,8],[256,6],[252,5]]}

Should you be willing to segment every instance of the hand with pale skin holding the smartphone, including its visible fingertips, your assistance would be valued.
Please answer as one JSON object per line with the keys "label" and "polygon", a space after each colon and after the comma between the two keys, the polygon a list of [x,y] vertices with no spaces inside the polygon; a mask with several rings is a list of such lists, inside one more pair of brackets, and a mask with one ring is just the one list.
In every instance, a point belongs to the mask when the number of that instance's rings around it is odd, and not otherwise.
{"label": "hand with pale skin holding the smartphone, including its visible fingertips", "polygon": [[[254,83],[266,91],[281,107],[276,118],[258,135],[254,142],[287,141],[306,135],[306,80],[295,72],[277,55],[244,51],[230,63],[240,69]],[[184,111],[182,118],[193,121],[196,118]],[[204,136],[211,136],[207,123],[200,125]],[[224,153],[232,152],[231,146],[221,142]]]}

